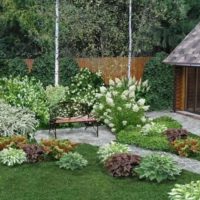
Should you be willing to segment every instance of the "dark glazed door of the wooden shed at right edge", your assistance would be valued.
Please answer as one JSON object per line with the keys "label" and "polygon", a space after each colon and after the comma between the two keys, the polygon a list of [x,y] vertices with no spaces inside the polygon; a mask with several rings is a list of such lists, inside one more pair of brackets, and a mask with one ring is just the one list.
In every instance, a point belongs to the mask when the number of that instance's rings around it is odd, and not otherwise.
{"label": "dark glazed door of the wooden shed at right edge", "polygon": [[200,69],[187,68],[186,110],[200,113]]}

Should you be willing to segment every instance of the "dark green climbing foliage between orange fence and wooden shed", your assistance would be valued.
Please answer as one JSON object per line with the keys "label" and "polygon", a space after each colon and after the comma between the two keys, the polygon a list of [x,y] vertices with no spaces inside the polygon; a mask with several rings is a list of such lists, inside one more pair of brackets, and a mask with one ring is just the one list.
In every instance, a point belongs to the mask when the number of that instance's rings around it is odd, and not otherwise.
{"label": "dark green climbing foliage between orange fence and wooden shed", "polygon": [[173,102],[173,67],[163,63],[166,53],[157,53],[144,69],[144,80],[149,81],[147,103],[152,110],[169,109]]}

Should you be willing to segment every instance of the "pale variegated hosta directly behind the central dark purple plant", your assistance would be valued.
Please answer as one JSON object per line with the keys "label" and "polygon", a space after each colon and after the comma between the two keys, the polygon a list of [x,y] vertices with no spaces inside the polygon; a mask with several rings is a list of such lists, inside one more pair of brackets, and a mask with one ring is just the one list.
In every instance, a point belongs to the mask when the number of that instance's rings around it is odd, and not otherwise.
{"label": "pale variegated hosta directly behind the central dark purple plant", "polygon": [[125,144],[111,142],[110,144],[104,145],[99,148],[97,155],[101,162],[105,161],[112,155],[119,153],[128,153],[129,147]]}

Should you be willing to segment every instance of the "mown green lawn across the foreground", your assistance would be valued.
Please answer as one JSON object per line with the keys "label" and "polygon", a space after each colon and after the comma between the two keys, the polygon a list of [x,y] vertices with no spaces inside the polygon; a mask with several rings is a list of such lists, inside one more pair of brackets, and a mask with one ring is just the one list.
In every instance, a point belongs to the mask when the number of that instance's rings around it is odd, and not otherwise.
{"label": "mown green lawn across the foreground", "polygon": [[175,183],[200,179],[189,172],[162,184],[113,178],[99,164],[96,150],[90,145],[77,148],[89,161],[80,171],[59,169],[55,162],[0,166],[0,200],[165,200]]}

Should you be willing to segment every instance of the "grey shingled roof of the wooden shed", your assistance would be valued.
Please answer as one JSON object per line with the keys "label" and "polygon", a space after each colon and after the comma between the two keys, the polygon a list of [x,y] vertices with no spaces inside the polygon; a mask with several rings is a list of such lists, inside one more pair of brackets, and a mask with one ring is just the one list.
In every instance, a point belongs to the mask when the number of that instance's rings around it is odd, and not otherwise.
{"label": "grey shingled roof of the wooden shed", "polygon": [[172,65],[200,66],[200,23],[163,62]]}

